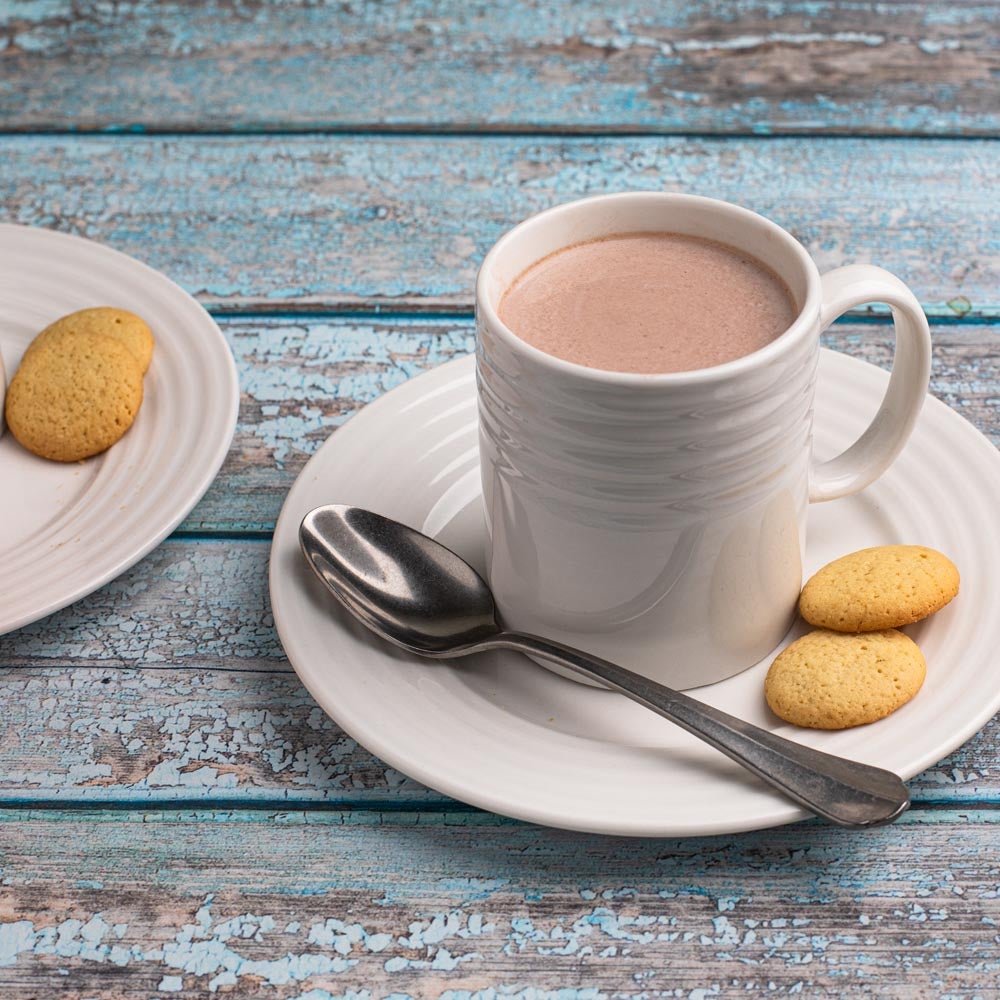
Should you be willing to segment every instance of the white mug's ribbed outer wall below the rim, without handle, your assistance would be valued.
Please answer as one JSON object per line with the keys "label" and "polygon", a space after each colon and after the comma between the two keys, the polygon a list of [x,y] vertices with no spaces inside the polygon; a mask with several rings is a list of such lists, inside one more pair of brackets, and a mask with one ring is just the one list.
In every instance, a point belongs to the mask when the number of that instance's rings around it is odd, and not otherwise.
{"label": "white mug's ribbed outer wall below the rim, without handle", "polygon": [[480,317],[489,573],[516,627],[694,686],[766,655],[801,582],[819,357],[711,383],[553,370]]}

